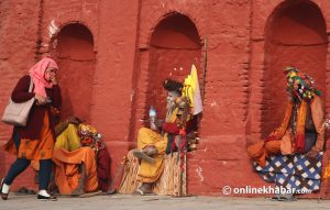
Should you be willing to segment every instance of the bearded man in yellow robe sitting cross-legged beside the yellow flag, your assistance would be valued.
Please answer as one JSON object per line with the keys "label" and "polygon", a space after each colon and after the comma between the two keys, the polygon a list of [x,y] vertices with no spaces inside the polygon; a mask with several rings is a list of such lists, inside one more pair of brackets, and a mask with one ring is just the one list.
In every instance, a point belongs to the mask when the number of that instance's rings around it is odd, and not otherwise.
{"label": "bearded man in yellow robe sitting cross-legged beside the yellow flag", "polygon": [[189,114],[186,109],[188,101],[185,100],[185,97],[182,97],[183,84],[167,79],[163,86],[167,90],[165,122],[156,120],[154,123],[151,120],[151,129],[140,129],[138,148],[133,151],[133,155],[141,163],[138,179],[142,183],[142,186],[136,190],[136,194],[140,195],[152,192],[152,184],[162,175],[164,169],[163,156],[166,152],[168,140],[172,139],[175,142],[184,130],[189,132],[188,130],[191,128],[189,125],[191,120],[188,121]]}

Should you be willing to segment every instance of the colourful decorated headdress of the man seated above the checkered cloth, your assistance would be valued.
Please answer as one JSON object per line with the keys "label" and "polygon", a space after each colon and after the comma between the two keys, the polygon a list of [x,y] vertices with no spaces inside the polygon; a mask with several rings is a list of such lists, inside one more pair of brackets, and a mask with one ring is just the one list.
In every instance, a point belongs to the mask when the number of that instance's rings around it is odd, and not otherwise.
{"label": "colourful decorated headdress of the man seated above the checkered cloth", "polygon": [[284,74],[287,77],[287,91],[294,93],[299,100],[311,100],[315,95],[321,92],[315,88],[315,79],[295,67],[286,67]]}

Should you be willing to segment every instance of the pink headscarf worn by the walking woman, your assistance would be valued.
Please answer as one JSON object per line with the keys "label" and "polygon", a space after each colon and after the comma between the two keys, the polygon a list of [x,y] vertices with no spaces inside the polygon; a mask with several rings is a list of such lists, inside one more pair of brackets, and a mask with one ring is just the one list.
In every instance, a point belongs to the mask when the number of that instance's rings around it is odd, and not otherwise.
{"label": "pink headscarf worn by the walking woman", "polygon": [[34,84],[34,92],[43,97],[47,97],[45,88],[52,88],[53,84],[45,79],[47,68],[56,68],[57,64],[51,58],[43,58],[29,70],[29,74]]}

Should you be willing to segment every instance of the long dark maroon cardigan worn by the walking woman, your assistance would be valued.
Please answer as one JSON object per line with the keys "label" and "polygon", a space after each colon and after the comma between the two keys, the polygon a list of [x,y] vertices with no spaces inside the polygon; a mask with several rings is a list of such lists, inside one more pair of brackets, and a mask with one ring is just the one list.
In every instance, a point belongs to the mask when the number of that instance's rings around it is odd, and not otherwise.
{"label": "long dark maroon cardigan worn by the walking woman", "polygon": [[[34,97],[34,92],[29,92],[30,80],[31,78],[29,75],[23,76],[19,80],[11,95],[11,99],[14,102],[24,102]],[[46,88],[46,93],[47,97],[50,97],[50,99],[52,100],[52,106],[59,109],[62,103],[61,88],[57,85],[53,86],[52,89]],[[46,111],[48,112],[50,117],[52,117],[50,103],[45,106],[33,104],[29,114],[26,126],[14,126],[14,130],[19,132],[20,137],[33,140],[40,139],[43,125],[42,122]],[[53,118],[50,118],[50,125],[54,135],[55,123]]]}

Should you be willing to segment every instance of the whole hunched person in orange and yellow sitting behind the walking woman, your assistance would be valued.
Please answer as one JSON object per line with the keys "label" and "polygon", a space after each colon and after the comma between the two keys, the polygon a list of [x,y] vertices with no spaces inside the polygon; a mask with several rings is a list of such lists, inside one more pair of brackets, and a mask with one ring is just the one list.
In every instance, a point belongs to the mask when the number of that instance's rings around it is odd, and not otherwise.
{"label": "whole hunched person in orange and yellow sitting behind the walking woman", "polygon": [[80,196],[107,191],[110,183],[110,156],[97,130],[78,119],[59,123],[55,131],[55,184],[59,194]]}

